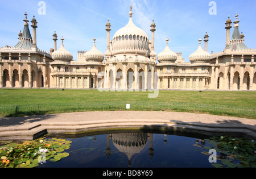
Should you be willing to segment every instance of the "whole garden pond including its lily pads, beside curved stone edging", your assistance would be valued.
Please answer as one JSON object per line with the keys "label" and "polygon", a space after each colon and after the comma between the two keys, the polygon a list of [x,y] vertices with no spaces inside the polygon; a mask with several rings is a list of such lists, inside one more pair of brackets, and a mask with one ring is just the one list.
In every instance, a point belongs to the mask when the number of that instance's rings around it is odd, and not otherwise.
{"label": "whole garden pond including its lily pads, beside curved stone edging", "polygon": [[256,168],[256,141],[161,131],[47,134],[0,147],[0,167]]}

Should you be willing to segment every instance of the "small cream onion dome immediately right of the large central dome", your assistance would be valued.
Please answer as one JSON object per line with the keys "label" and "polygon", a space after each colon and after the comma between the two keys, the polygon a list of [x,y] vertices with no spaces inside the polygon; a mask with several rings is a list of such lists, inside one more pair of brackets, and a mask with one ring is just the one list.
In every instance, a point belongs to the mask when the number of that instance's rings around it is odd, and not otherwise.
{"label": "small cream onion dome immediately right of the large central dome", "polygon": [[159,63],[161,62],[175,62],[177,60],[177,54],[175,52],[172,52],[168,46],[168,37],[166,39],[167,43],[166,43],[166,48],[164,49],[163,52],[158,54],[158,61]]}

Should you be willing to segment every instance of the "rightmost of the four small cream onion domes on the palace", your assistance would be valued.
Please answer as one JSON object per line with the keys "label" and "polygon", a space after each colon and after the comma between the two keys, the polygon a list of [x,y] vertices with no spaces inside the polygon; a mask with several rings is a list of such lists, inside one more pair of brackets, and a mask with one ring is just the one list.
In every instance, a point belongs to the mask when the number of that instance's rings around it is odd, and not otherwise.
{"label": "rightmost of the four small cream onion domes on the palace", "polygon": [[191,63],[197,63],[197,62],[208,62],[210,60],[210,53],[203,50],[201,47],[201,38],[199,39],[199,47],[197,48],[197,51],[192,53],[189,56],[189,61]]}

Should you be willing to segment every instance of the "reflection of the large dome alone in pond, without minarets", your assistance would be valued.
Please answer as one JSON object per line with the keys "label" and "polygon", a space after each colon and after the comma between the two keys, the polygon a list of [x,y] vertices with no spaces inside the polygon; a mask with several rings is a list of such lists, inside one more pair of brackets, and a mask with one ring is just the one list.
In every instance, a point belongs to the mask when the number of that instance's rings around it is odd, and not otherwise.
{"label": "reflection of the large dome alone in pond, without minarets", "polygon": [[135,153],[139,153],[147,144],[147,134],[123,133],[112,134],[114,146],[127,155],[130,160]]}

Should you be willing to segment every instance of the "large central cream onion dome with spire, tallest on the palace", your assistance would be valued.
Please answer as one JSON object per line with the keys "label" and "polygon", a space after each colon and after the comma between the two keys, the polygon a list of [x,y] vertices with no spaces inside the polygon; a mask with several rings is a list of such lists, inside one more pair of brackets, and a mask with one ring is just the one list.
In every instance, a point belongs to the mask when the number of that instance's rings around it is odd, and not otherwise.
{"label": "large central cream onion dome with spire, tallest on the palace", "polygon": [[135,53],[141,55],[149,54],[148,36],[141,28],[135,26],[130,7],[129,23],[115,32],[112,40],[113,55],[121,53]]}

